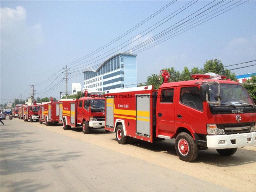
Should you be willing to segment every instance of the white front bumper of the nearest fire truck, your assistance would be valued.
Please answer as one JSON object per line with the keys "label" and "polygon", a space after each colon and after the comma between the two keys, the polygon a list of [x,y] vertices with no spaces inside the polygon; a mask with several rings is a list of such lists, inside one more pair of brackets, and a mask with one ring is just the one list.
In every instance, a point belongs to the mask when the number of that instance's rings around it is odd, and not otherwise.
{"label": "white front bumper of the nearest fire truck", "polygon": [[[248,139],[251,138],[251,139]],[[256,144],[256,132],[240,133],[231,135],[207,135],[208,149],[226,149],[245,147]],[[220,140],[225,140],[224,144],[218,144]],[[231,141],[232,140],[232,141]]]}

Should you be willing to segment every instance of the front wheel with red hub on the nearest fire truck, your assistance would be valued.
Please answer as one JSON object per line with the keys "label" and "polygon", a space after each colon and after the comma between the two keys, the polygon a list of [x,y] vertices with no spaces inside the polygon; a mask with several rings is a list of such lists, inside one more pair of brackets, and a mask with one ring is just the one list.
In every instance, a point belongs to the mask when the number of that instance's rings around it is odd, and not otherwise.
{"label": "front wheel with red hub on the nearest fire truck", "polygon": [[191,135],[181,132],[175,140],[175,150],[182,161],[194,161],[198,155],[198,147]]}

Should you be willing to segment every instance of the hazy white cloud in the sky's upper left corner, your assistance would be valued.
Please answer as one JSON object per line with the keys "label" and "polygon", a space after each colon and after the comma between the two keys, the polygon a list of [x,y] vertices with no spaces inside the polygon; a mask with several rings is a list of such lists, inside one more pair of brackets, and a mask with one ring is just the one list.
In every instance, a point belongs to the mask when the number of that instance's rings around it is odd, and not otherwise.
{"label": "hazy white cloud in the sky's upper left corner", "polygon": [[42,26],[40,23],[30,26],[26,22],[27,12],[24,7],[16,9],[1,7],[1,46],[4,49],[34,48],[43,43]]}

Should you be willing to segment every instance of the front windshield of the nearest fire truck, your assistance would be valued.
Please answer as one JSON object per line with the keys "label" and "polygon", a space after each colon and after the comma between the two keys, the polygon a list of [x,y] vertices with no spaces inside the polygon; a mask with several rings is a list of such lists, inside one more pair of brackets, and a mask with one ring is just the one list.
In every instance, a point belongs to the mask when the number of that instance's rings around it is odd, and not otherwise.
{"label": "front windshield of the nearest fire truck", "polygon": [[[208,85],[209,101],[218,100],[217,84]],[[220,103],[224,105],[254,105],[249,93],[242,85],[220,84]]]}

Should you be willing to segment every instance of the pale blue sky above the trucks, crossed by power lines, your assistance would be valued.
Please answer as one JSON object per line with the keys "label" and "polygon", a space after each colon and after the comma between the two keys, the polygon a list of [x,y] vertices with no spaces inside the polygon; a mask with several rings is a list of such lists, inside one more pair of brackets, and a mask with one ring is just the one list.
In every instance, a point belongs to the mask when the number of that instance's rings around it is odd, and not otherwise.
{"label": "pale blue sky above the trucks, crossed by power lines", "polygon": [[[112,52],[127,51],[210,3],[196,2],[147,35],[120,49],[125,41],[137,36],[188,2],[173,3],[115,44],[76,65],[94,57],[102,59],[97,62],[94,61],[98,59],[94,59],[85,64],[100,64],[108,59],[109,56],[106,55],[111,52],[105,52],[110,49],[119,45],[119,50],[117,48]],[[215,1],[212,5],[218,2]],[[235,2],[237,1],[226,6]],[[58,97],[60,91],[65,91],[63,82],[61,86],[56,86],[49,92],[45,91],[64,75],[58,73],[51,78],[59,76],[53,84],[52,81],[45,81],[48,77],[68,63],[107,44],[168,3],[170,1],[1,1],[1,99],[18,98],[20,93],[23,97],[28,97],[29,85],[40,82],[45,84],[35,85],[38,93],[35,97]],[[138,83],[145,82],[147,76],[158,74],[160,69],[166,67],[174,67],[181,72],[185,66],[189,69],[202,68],[206,60],[214,58],[221,60],[224,66],[255,60],[255,10],[255,1],[246,2],[162,44],[138,53]],[[136,38],[138,37],[140,36]],[[100,56],[101,54],[103,55]],[[71,75],[77,74],[77,77],[68,81],[68,91],[71,91],[72,82],[83,84],[83,74],[80,70],[85,70],[88,66],[72,71]],[[229,69],[236,67],[239,66]],[[242,75],[256,72],[256,68],[252,66],[232,72]],[[1,103],[4,102],[6,101],[1,100]]]}

